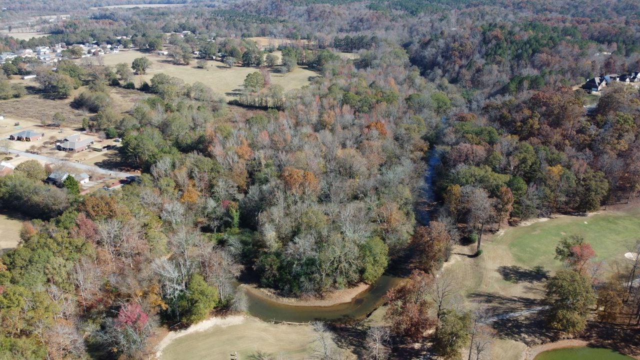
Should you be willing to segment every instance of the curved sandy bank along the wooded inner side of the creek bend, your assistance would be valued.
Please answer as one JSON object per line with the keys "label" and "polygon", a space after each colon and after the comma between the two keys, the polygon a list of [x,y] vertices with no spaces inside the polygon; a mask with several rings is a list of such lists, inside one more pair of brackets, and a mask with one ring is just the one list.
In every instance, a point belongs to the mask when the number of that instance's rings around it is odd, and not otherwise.
{"label": "curved sandy bank along the wooded inner side of the creek bend", "polygon": [[253,284],[241,285],[246,291],[252,293],[256,297],[261,299],[271,300],[279,304],[285,304],[289,306],[335,306],[339,304],[346,304],[353,301],[358,295],[369,290],[371,285],[367,285],[364,282],[360,283],[353,288],[347,288],[342,290],[335,290],[325,293],[323,297],[315,297],[310,299],[295,298],[295,297],[283,297],[276,294],[275,291],[268,288],[258,288]]}

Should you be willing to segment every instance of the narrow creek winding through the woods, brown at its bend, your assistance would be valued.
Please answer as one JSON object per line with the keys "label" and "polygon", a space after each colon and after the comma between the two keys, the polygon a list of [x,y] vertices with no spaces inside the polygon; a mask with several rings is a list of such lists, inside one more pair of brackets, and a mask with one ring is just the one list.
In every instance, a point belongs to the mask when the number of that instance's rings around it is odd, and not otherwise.
{"label": "narrow creek winding through the woods, brown at its bend", "polygon": [[[445,118],[442,118],[442,122]],[[434,175],[440,165],[441,152],[431,147],[424,174],[423,199],[416,204],[415,217],[422,225],[428,225],[431,218],[431,208],[435,200],[433,192]],[[335,306],[291,306],[280,304],[266,297],[260,297],[247,292],[249,299],[249,313],[264,321],[309,322],[326,320],[332,322],[349,322],[364,318],[378,308],[385,293],[402,279],[399,277],[381,276],[369,290],[361,293],[351,302]]]}

